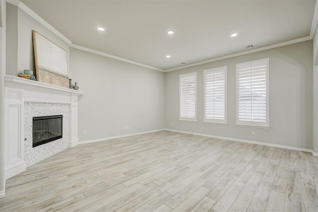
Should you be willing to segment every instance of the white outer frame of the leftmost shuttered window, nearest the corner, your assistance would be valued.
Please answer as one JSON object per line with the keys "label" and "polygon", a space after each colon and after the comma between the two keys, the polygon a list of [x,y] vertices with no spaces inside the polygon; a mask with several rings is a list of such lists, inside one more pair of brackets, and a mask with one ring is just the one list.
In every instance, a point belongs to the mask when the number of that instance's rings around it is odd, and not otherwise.
{"label": "white outer frame of the leftmost shuttered window, nearest the corner", "polygon": [[[181,117],[181,79],[183,77],[188,77],[188,76],[194,76],[195,77],[195,104],[194,104],[194,118],[192,117]],[[191,72],[187,74],[180,74],[179,75],[179,121],[185,121],[185,122],[197,122],[197,72]]]}

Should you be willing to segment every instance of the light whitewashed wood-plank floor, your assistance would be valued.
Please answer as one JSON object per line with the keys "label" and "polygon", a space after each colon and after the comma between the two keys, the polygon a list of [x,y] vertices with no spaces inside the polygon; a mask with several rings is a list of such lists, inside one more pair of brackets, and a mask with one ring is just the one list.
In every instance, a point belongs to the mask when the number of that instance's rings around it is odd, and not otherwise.
{"label": "light whitewashed wood-plank floor", "polygon": [[318,212],[311,153],[160,131],[82,144],[6,182],[0,211]]}

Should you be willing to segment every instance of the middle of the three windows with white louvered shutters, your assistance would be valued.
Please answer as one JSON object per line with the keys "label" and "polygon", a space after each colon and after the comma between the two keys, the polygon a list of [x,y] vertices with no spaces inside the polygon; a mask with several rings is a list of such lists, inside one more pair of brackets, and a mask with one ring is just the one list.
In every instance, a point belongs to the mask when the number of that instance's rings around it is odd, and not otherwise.
{"label": "middle of the three windows with white louvered shutters", "polygon": [[227,67],[204,71],[204,122],[227,123]]}

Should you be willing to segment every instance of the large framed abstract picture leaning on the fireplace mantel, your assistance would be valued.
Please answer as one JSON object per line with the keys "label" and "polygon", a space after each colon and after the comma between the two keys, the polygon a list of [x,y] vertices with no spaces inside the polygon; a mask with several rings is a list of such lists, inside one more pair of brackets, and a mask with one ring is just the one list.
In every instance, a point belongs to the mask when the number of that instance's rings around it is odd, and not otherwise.
{"label": "large framed abstract picture leaning on the fireplace mantel", "polygon": [[66,50],[35,30],[32,33],[37,81],[70,88]]}

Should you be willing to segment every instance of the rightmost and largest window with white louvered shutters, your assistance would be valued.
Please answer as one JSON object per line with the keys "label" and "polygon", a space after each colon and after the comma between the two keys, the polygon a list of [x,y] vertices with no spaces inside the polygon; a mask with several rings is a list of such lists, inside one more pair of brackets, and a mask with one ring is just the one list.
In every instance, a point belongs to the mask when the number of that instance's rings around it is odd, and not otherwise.
{"label": "rightmost and largest window with white louvered shutters", "polygon": [[237,125],[269,127],[268,62],[237,64]]}

